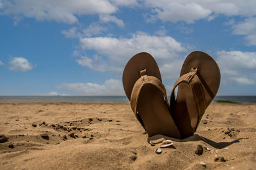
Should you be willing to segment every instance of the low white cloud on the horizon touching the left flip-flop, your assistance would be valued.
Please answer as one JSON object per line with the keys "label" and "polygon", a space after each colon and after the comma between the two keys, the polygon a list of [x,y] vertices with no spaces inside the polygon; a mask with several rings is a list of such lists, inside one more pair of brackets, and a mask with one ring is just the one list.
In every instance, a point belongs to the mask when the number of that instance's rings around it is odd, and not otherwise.
{"label": "low white cloud on the horizon touching the left flip-flop", "polygon": [[124,96],[122,81],[106,80],[104,84],[97,83],[62,83],[56,88],[67,89],[83,96]]}

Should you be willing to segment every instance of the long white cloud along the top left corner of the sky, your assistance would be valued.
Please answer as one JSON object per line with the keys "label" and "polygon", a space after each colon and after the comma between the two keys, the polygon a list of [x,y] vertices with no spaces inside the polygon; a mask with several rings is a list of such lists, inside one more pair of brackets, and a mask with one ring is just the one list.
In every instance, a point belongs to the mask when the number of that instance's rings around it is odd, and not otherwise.
{"label": "long white cloud along the top left corner of the sky", "polygon": [[76,15],[111,14],[117,10],[106,0],[4,0],[1,6],[4,15],[54,20],[68,24],[78,22]]}

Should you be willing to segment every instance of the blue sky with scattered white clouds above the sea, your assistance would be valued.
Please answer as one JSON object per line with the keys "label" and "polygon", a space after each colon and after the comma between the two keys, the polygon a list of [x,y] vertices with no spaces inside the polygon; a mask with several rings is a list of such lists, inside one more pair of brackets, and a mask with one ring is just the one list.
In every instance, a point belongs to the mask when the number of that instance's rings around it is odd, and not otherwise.
{"label": "blue sky with scattered white clouds above the sea", "polygon": [[139,52],[167,94],[186,56],[211,55],[218,96],[256,96],[255,0],[0,0],[0,96],[125,96]]}

